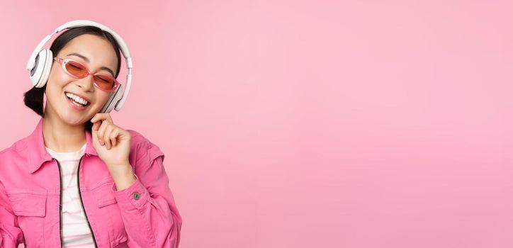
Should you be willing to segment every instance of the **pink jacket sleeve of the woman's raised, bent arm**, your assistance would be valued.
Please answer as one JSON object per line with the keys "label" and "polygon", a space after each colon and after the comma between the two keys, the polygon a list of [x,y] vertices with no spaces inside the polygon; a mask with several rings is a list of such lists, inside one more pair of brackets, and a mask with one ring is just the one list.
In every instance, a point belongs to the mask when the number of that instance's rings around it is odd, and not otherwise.
{"label": "pink jacket sleeve of the woman's raised, bent arm", "polygon": [[113,186],[128,246],[178,247],[182,220],[164,170],[164,154],[144,137],[137,150],[142,154],[132,164],[137,179],[121,191]]}

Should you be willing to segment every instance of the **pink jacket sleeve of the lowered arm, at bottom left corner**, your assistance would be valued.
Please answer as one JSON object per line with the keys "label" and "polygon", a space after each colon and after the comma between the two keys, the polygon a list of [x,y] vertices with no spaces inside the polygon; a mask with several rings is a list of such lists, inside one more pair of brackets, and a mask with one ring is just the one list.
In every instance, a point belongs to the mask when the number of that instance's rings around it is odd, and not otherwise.
{"label": "pink jacket sleeve of the lowered arm, at bottom left corner", "polygon": [[21,243],[23,232],[18,226],[18,217],[14,215],[4,185],[0,182],[0,248],[18,247]]}

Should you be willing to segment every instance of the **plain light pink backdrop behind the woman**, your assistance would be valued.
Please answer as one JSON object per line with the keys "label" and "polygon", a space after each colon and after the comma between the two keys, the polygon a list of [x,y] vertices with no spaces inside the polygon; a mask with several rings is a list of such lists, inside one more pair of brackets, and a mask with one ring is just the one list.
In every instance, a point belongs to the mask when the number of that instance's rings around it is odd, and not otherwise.
{"label": "plain light pink backdrop behind the woman", "polygon": [[181,247],[513,247],[511,1],[0,9],[0,147],[39,119],[35,45],[110,26],[134,60],[112,116],[166,154]]}

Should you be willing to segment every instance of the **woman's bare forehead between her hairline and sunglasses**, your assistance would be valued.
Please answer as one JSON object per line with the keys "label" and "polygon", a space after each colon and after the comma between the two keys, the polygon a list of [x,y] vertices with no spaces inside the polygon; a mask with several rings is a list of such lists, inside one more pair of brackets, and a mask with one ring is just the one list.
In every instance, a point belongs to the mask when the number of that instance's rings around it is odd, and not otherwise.
{"label": "woman's bare forehead between her hairline and sunglasses", "polygon": [[[57,56],[66,57],[70,53],[78,53],[87,57],[89,62],[86,62],[86,64],[91,67],[90,69],[108,67],[115,72],[118,65],[118,57],[113,45],[106,38],[98,35],[79,35],[69,40]],[[85,62],[84,60],[81,61]]]}

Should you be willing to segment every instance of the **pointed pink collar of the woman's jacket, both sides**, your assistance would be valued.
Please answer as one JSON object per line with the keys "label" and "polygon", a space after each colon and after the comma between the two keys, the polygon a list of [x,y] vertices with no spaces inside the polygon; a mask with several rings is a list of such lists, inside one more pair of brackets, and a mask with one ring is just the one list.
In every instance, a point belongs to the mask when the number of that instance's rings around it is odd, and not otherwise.
{"label": "pointed pink collar of the woman's jacket, both sides", "polygon": [[[94,150],[93,139],[91,133],[86,133],[86,154],[98,156]],[[43,118],[40,118],[35,130],[26,140],[28,152],[28,170],[30,173],[37,171],[44,162],[52,160],[52,155],[45,148],[45,140],[43,139]]]}

